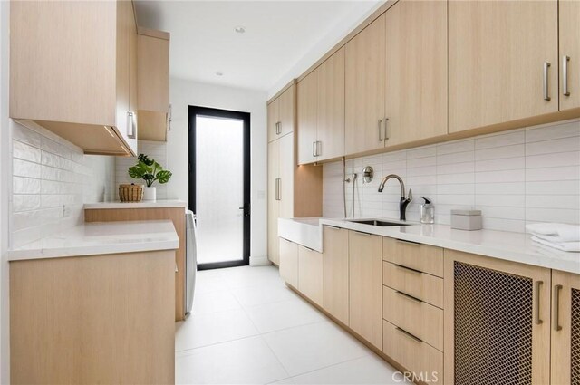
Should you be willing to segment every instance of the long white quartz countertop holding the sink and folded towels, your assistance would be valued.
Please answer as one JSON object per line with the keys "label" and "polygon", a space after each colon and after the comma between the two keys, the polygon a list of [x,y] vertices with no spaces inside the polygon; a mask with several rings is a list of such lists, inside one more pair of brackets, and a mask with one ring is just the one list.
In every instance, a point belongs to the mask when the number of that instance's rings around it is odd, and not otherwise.
{"label": "long white quartz countertop holding the sink and folded towels", "polygon": [[[377,219],[398,222],[392,219]],[[302,218],[284,219],[284,221],[292,220],[295,220],[296,224],[304,222]],[[309,218],[308,221],[312,221],[312,218]],[[280,220],[278,229],[280,236],[285,237],[284,231],[288,226],[282,226],[282,222],[283,220]],[[320,248],[313,248],[320,252],[324,251],[322,249],[322,226],[328,225],[375,234],[377,236],[388,236],[405,241],[440,246],[465,253],[486,255],[507,261],[580,274],[580,253],[566,253],[546,246],[537,245],[532,242],[529,234],[495,230],[463,231],[454,230],[450,226],[445,225],[421,225],[416,223],[411,223],[411,226],[381,227],[353,223],[345,219],[327,218],[319,218],[318,223],[320,228],[303,226],[302,233],[309,233],[310,238],[307,241],[311,245],[313,242],[312,236],[319,236],[317,242]],[[295,232],[294,234],[300,234],[300,232]],[[297,236],[293,236],[293,238],[289,240],[301,244]]]}

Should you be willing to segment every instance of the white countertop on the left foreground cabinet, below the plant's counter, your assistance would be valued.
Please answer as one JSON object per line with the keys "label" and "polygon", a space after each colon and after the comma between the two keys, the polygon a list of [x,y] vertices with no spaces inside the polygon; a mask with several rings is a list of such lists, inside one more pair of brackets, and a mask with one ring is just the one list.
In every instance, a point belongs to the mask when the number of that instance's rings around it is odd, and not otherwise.
{"label": "white countertop on the left foreground cabinet, below the plant's counter", "polygon": [[6,252],[8,261],[175,250],[179,238],[173,222],[94,222],[73,226]]}

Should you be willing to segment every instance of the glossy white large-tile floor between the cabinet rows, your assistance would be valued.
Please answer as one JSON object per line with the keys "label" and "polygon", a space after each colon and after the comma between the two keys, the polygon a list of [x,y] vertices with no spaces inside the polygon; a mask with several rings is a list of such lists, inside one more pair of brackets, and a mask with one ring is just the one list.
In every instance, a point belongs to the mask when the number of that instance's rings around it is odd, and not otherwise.
{"label": "glossy white large-tile floor between the cabinet rows", "polygon": [[398,384],[395,370],[288,289],[272,266],[198,272],[175,336],[179,384]]}

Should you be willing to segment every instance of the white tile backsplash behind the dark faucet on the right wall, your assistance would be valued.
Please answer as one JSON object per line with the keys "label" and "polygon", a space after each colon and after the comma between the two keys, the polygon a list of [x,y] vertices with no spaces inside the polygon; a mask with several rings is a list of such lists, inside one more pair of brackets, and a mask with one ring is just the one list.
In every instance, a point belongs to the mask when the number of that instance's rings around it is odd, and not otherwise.
{"label": "white tile backsplash behind the dark faucet on the right wall", "polygon": [[[419,221],[421,196],[435,204],[436,223],[449,225],[453,208],[482,211],[483,227],[524,232],[527,223],[580,224],[580,121],[511,130],[468,140],[351,159],[347,178],[374,168],[374,179],[354,183],[355,217],[399,217],[401,188],[382,177],[398,174],[414,200],[407,218]],[[324,217],[344,217],[343,166],[324,164]],[[346,184],[353,216],[353,184]]]}

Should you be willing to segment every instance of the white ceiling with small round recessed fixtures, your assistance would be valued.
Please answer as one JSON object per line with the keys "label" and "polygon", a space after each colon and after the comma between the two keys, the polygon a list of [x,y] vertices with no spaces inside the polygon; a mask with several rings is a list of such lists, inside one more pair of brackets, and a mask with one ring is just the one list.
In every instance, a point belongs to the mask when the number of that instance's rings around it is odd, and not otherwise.
{"label": "white ceiling with small round recessed fixtures", "polygon": [[[171,34],[172,77],[273,91],[312,65],[380,4],[138,0],[136,8],[140,26]],[[246,33],[234,32],[237,25]]]}

